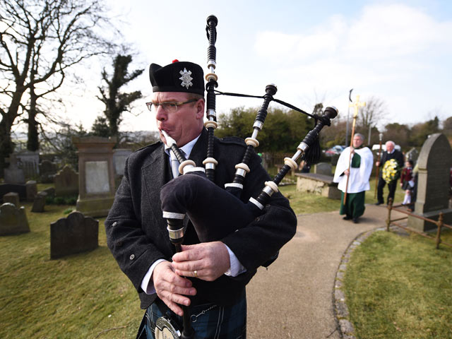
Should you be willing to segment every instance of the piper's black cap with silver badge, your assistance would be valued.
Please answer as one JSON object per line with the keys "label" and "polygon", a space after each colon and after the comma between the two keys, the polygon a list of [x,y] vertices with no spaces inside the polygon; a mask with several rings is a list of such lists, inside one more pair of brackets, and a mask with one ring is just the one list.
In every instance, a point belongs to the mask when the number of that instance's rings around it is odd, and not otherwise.
{"label": "piper's black cap with silver badge", "polygon": [[150,64],[149,79],[153,92],[185,92],[204,95],[204,74],[201,66],[189,61],[174,60],[160,66]]}

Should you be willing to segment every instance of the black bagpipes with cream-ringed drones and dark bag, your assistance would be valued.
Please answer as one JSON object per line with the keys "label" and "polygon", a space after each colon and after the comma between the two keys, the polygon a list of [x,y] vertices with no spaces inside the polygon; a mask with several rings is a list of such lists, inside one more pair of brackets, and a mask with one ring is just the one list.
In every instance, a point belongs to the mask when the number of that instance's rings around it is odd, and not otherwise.
{"label": "black bagpipes with cream-ringed drones and dark bag", "polygon": [[[249,225],[255,218],[262,214],[263,208],[270,201],[270,197],[278,192],[278,184],[283,180],[290,169],[298,167],[297,160],[307,160],[310,163],[316,163],[320,157],[319,132],[323,126],[330,126],[331,119],[335,118],[338,110],[335,107],[326,107],[323,115],[312,115],[302,111],[295,106],[287,104],[281,100],[276,100],[273,95],[277,92],[275,85],[266,86],[266,94],[263,95],[263,104],[259,109],[253,124],[253,133],[251,137],[246,138],[246,150],[242,157],[242,162],[235,165],[236,172],[231,183],[225,184],[223,189],[214,183],[215,167],[218,161],[213,155],[214,130],[217,128],[215,112],[216,95],[237,95],[235,93],[221,93],[215,88],[218,87],[218,76],[215,75],[216,67],[216,49],[215,42],[217,37],[216,26],[218,19],[215,16],[207,18],[206,32],[209,41],[208,45],[208,69],[210,73],[206,75],[206,118],[205,127],[208,131],[208,148],[206,160],[203,161],[203,167],[196,167],[192,160],[186,160],[183,153],[177,147],[176,141],[164,134],[167,146],[172,149],[177,160],[179,160],[179,172],[183,174],[162,186],[160,198],[162,201],[163,218],[167,220],[167,230],[169,239],[174,244],[176,251],[181,251],[181,245],[184,241],[185,228],[183,220],[188,216],[194,225],[196,234],[200,242],[218,241],[238,230]],[[252,95],[237,95],[242,97],[255,97]],[[286,157],[285,165],[274,177],[273,181],[265,182],[261,194],[256,198],[249,198],[247,203],[241,200],[243,182],[246,174],[250,172],[249,160],[259,143],[257,140],[258,132],[263,128],[268,105],[270,102],[279,102],[286,107],[295,109],[298,112],[313,117],[316,121],[314,129],[309,131],[297,146],[297,151],[292,157]],[[206,208],[205,201],[215,201]],[[213,222],[212,220],[215,220]],[[184,309],[184,332],[182,338],[191,338],[193,330],[189,323],[189,315],[186,316]]]}

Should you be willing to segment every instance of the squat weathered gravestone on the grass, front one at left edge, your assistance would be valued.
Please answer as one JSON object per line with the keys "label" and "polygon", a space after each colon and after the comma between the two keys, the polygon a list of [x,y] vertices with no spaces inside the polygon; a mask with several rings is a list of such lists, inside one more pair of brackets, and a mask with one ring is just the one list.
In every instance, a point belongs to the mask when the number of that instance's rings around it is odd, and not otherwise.
{"label": "squat weathered gravestone on the grass, front one at left edge", "polygon": [[0,235],[30,232],[25,208],[17,208],[12,203],[0,206]]}

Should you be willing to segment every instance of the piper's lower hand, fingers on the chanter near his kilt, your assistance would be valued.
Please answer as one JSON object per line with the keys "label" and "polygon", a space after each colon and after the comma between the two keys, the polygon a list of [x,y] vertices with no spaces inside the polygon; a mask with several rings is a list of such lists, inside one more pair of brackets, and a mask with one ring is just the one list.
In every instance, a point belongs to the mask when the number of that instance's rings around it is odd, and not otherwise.
{"label": "piper's lower hand, fingers on the chanter near his kilt", "polygon": [[155,266],[153,283],[158,297],[179,316],[182,316],[184,311],[178,304],[186,306],[190,304],[190,299],[184,295],[196,295],[196,289],[191,287],[191,281],[179,277],[169,261],[162,261]]}

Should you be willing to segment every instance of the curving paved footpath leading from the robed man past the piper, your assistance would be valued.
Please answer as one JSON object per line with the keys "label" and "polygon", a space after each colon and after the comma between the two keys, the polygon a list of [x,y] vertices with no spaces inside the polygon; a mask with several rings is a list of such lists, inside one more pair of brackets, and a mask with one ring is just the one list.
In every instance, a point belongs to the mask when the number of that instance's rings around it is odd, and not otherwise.
{"label": "curving paved footpath leading from the robed man past the piper", "polygon": [[366,206],[358,224],[338,211],[299,215],[295,237],[246,287],[247,338],[340,338],[333,314],[336,271],[352,241],[386,227],[387,215],[386,208],[374,205]]}

